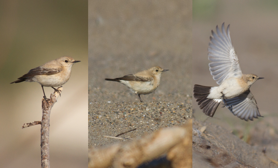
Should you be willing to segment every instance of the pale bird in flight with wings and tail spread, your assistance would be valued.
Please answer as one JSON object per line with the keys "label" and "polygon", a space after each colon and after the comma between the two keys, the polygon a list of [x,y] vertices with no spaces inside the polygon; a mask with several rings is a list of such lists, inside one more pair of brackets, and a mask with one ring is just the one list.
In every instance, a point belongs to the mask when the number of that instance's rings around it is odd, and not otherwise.
{"label": "pale bird in flight with wings and tail spread", "polygon": [[209,70],[219,86],[195,84],[194,97],[207,116],[213,117],[218,105],[223,101],[224,106],[238,118],[253,120],[262,116],[249,88],[256,80],[263,78],[254,74],[242,74],[229,27],[230,25],[225,32],[223,23],[221,32],[216,26],[216,33],[212,30],[208,47],[208,59],[212,61],[209,63]]}

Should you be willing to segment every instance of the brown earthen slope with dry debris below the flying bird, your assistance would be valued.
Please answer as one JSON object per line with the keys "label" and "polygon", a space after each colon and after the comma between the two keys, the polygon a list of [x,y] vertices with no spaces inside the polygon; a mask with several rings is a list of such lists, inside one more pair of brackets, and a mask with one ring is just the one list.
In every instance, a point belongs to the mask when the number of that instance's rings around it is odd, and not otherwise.
{"label": "brown earthen slope with dry debris below the flying bird", "polygon": [[193,124],[193,167],[272,167],[262,148],[251,146],[226,129],[208,122]]}

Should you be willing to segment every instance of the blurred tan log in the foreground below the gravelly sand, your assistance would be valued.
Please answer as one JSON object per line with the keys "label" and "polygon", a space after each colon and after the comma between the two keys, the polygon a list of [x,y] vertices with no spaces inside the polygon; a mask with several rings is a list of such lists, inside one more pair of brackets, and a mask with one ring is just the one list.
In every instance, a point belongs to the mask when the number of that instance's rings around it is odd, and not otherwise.
{"label": "blurred tan log in the foreground below the gravelly sand", "polygon": [[90,149],[88,168],[136,168],[165,153],[173,168],[192,167],[192,120],[128,143]]}

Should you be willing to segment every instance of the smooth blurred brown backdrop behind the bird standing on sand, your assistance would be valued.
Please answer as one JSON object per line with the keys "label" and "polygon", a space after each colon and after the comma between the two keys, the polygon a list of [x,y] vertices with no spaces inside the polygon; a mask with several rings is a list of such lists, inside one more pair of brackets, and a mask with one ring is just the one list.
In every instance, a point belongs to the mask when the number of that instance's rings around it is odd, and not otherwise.
{"label": "smooth blurred brown backdrop behind the bird standing on sand", "polygon": [[169,69],[144,102],[192,101],[192,1],[89,1],[89,101],[140,102],[105,81],[153,66]]}

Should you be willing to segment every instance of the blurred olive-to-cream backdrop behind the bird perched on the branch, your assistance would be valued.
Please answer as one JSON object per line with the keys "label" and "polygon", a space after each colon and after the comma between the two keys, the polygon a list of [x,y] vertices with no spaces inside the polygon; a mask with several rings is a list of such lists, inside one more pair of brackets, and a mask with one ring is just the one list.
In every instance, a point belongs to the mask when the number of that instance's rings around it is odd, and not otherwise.
{"label": "blurred olive-to-cream backdrop behind the bird perched on the branch", "polygon": [[[51,167],[88,163],[88,1],[0,2],[0,167],[41,167],[41,85],[10,84],[61,56],[81,62],[50,115]],[[52,88],[45,87],[47,97]]]}

